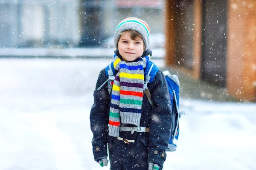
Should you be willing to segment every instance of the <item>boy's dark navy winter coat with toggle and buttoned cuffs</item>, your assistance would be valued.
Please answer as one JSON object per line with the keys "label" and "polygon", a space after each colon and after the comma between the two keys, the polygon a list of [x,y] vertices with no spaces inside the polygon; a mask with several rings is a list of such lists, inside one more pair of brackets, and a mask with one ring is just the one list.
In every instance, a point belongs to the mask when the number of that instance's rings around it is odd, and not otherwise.
{"label": "boy's dark navy winter coat with toggle and buttoned cuffs", "polygon": [[[119,52],[115,51],[115,53],[122,60]],[[151,54],[151,51],[144,51],[142,57],[148,56],[148,54]],[[96,89],[107,79],[105,69],[102,69],[99,73]],[[108,84],[93,93],[94,104],[90,112],[93,155],[95,160],[107,157],[108,148],[111,170],[148,170],[151,168],[149,164],[153,166],[154,163],[160,166],[159,170],[163,168],[163,162],[166,160],[165,150],[170,138],[172,111],[169,106],[170,98],[162,71],[158,71],[154,81],[148,83],[148,90],[151,93],[154,107],[150,105],[146,95],[143,95],[140,126],[148,127],[150,130],[145,133],[119,131],[119,137],[134,140],[129,144],[117,139],[117,137],[108,135],[111,108]],[[137,127],[131,123],[123,123],[122,117],[119,126]]]}

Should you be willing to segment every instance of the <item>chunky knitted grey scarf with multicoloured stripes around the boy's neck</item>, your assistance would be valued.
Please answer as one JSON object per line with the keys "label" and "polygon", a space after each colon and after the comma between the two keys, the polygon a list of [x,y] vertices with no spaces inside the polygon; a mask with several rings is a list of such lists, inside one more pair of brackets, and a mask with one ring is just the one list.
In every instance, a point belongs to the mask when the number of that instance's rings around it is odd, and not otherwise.
{"label": "chunky knitted grey scarf with multicoloured stripes around the boy's neck", "polygon": [[150,57],[148,55],[133,62],[125,62],[114,55],[113,64],[118,72],[111,94],[108,132],[110,136],[119,136],[120,118],[122,123],[140,126],[144,68]]}

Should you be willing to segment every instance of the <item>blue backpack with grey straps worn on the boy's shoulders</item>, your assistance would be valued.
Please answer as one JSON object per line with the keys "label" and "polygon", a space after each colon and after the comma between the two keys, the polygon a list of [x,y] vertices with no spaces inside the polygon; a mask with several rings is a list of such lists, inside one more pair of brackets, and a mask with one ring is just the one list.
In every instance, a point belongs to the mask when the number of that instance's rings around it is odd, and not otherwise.
{"label": "blue backpack with grey straps worn on the boy's shoulders", "polygon": [[[157,65],[155,65],[151,61],[148,62],[148,65],[146,66],[144,71],[144,91],[152,107],[153,107],[153,102],[151,100],[151,94],[148,90],[147,84],[153,82],[154,77],[158,71],[159,71],[159,68],[157,67]],[[115,79],[115,73],[116,73],[113,62],[111,62],[105,68],[105,72],[106,72],[106,75],[108,76],[108,79],[97,90],[101,89],[105,85],[105,83],[108,82],[108,92],[109,94],[111,94],[113,81]],[[165,79],[168,85],[169,95],[171,99],[172,117],[173,117],[171,137],[169,139],[169,144],[166,151],[173,152],[177,148],[177,140],[180,132],[179,119],[182,114],[185,114],[185,112],[179,111],[179,95],[180,95],[179,78],[177,77],[177,75],[171,75],[169,71],[163,71],[163,74],[165,76]]]}

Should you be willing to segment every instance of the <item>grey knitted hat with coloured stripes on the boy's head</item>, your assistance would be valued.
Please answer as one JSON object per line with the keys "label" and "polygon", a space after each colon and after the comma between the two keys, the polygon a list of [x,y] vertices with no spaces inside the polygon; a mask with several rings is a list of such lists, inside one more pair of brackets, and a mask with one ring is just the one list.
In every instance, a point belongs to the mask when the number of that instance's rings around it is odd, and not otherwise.
{"label": "grey knitted hat with coloured stripes on the boy's head", "polygon": [[149,33],[150,33],[149,27],[148,27],[147,23],[145,23],[145,21],[140,20],[139,18],[134,18],[134,17],[126,18],[126,19],[122,20],[121,23],[118,24],[118,26],[116,28],[116,33],[114,35],[114,43],[115,43],[116,49],[118,49],[117,43],[120,38],[120,33],[124,32],[126,30],[134,30],[134,31],[137,31],[138,33],[140,33],[141,36],[143,37],[143,41],[145,44],[145,50],[148,49]]}

